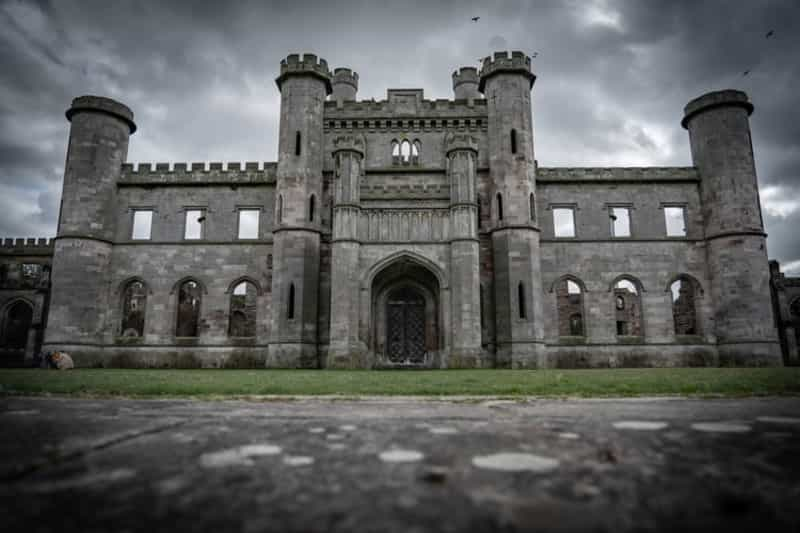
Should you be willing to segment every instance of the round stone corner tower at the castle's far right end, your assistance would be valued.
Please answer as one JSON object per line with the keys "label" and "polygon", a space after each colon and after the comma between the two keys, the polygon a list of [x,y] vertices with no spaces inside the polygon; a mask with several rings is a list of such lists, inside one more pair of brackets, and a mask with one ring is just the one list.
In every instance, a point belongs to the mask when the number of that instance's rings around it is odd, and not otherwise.
{"label": "round stone corner tower at the castle's far right end", "polygon": [[781,361],[750,139],[752,112],[745,93],[717,91],[689,102],[681,122],[700,173],[713,333],[722,365]]}

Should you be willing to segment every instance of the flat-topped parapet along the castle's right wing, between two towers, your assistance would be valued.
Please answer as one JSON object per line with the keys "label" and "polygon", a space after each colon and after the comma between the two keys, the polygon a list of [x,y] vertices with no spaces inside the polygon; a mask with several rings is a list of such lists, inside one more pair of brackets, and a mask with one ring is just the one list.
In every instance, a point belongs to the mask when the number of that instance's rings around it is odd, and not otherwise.
{"label": "flat-topped parapet along the castle's right wing, between two towers", "polygon": [[695,167],[538,167],[537,183],[699,182]]}

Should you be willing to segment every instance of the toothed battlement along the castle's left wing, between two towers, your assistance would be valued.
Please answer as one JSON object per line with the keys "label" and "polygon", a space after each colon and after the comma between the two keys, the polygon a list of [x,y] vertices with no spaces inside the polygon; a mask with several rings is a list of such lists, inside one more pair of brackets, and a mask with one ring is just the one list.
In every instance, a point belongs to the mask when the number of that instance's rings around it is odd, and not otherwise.
{"label": "toothed battlement along the castle's left wing, between two towers", "polygon": [[277,163],[125,163],[120,185],[274,183]]}

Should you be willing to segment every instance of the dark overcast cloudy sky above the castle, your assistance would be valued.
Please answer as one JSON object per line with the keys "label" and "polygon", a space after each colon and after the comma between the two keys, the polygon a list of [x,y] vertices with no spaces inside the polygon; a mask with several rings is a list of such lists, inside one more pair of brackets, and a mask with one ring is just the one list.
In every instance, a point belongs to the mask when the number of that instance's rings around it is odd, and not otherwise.
{"label": "dark overcast cloudy sky above the castle", "polygon": [[683,106],[746,91],[769,254],[800,274],[797,0],[0,0],[0,27],[0,236],[55,234],[75,96],[133,109],[131,162],[273,161],[288,53],[358,71],[359,99],[452,98],[454,69],[519,49],[541,166],[691,165]]}

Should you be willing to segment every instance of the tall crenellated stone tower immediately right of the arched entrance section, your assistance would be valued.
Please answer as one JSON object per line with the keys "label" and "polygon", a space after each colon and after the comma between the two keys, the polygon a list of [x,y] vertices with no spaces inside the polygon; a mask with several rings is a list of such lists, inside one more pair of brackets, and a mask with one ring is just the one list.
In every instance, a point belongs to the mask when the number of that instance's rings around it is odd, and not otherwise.
{"label": "tall crenellated stone tower immediately right of the arched entrance section", "polygon": [[522,52],[483,60],[478,89],[488,111],[497,366],[544,366],[542,276],[530,92]]}

